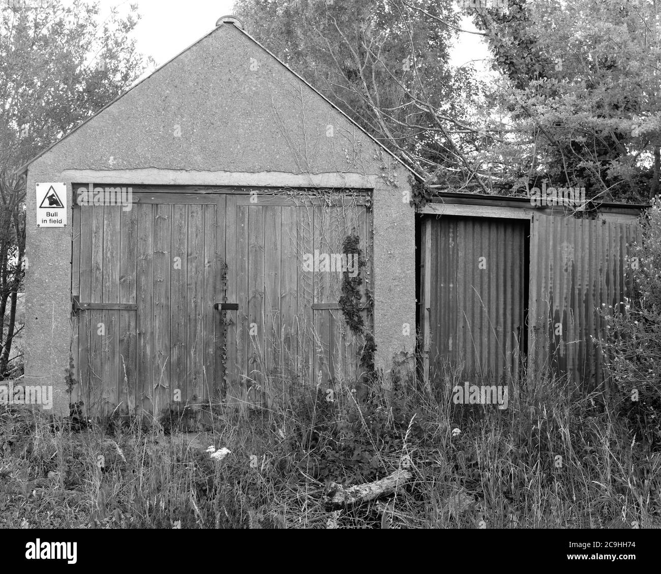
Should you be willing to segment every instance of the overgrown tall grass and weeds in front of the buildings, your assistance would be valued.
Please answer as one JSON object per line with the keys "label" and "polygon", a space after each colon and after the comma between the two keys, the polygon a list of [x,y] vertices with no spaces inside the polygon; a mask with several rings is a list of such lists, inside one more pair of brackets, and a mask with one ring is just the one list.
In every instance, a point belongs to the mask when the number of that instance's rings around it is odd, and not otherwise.
{"label": "overgrown tall grass and weeds in front of the buildings", "polygon": [[[454,405],[395,384],[334,401],[305,388],[287,407],[213,429],[157,421],[75,431],[40,413],[0,412],[0,526],[23,528],[651,528],[661,524],[661,454],[627,434],[600,393],[554,380],[512,388],[506,410]],[[145,424],[149,423],[149,424]],[[454,431],[459,429],[459,431]],[[208,446],[229,448],[214,460]],[[398,468],[395,495],[327,503],[329,483]]]}

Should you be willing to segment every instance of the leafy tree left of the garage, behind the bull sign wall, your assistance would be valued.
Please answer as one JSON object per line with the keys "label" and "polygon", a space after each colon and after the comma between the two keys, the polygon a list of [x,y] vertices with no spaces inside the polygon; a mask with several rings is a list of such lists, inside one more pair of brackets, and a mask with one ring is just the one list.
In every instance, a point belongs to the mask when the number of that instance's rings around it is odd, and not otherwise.
{"label": "leafy tree left of the garage, behind the bull sign wall", "polygon": [[114,99],[149,60],[128,37],[139,16],[98,3],[9,0],[0,5],[0,377],[8,367],[24,276],[25,181],[16,170]]}

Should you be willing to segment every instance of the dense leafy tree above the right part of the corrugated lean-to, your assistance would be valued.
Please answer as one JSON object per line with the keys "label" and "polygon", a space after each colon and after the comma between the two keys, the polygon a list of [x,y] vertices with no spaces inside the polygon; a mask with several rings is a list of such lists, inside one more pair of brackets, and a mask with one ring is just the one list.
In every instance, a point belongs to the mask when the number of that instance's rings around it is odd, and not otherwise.
{"label": "dense leafy tree above the right part of the corrugated lean-to", "polygon": [[[494,91],[515,187],[550,178],[596,200],[641,202],[661,177],[661,29],[647,0],[510,0],[471,9],[504,80]],[[505,149],[507,148],[507,149]]]}

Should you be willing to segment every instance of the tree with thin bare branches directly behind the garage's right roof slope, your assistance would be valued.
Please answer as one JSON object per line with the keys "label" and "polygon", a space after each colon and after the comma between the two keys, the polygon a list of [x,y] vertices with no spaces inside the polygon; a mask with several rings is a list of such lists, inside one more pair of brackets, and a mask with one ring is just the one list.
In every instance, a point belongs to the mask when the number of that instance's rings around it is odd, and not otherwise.
{"label": "tree with thin bare branches directly behind the garage's right roof slope", "polygon": [[[235,12],[294,71],[428,181],[474,178],[468,122],[481,84],[453,69],[445,0],[237,0]],[[463,138],[463,139],[462,139]]]}

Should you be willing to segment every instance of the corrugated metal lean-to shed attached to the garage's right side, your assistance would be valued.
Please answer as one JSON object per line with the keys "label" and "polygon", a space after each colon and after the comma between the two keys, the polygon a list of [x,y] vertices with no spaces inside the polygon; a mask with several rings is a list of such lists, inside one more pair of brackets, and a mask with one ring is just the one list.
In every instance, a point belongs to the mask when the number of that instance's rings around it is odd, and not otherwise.
{"label": "corrugated metal lean-to shed attached to the garage's right side", "polygon": [[447,194],[418,209],[426,380],[436,382],[447,361],[463,365],[462,380],[494,384],[518,378],[525,362],[529,380],[598,386],[598,309],[625,302],[628,246],[640,239],[644,207],[603,204],[594,218],[576,218],[527,198]]}

